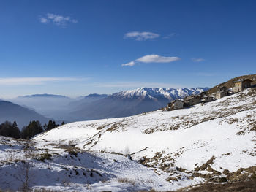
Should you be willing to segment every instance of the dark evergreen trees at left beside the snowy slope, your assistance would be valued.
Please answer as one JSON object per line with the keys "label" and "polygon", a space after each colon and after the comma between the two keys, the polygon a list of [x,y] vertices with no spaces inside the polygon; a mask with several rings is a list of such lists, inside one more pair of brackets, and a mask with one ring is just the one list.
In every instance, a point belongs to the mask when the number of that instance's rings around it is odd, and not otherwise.
{"label": "dark evergreen trees at left beside the snowy slope", "polygon": [[[64,125],[64,122],[61,123]],[[0,125],[0,135],[5,137],[12,137],[15,139],[31,139],[37,134],[44,131],[49,131],[50,129],[56,128],[59,125],[56,124],[54,120],[49,120],[48,124],[45,123],[44,126],[38,120],[33,120],[28,126],[24,126],[21,131],[17,126],[16,121],[11,123],[10,121],[5,121]]]}

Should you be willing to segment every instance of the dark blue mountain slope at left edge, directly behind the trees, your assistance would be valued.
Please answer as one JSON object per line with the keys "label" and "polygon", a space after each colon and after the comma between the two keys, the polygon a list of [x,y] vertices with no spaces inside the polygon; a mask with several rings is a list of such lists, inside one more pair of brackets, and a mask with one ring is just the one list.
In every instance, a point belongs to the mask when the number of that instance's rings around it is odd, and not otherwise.
{"label": "dark blue mountain slope at left edge, directly behind the trees", "polygon": [[31,120],[39,120],[40,123],[47,123],[49,118],[45,118],[33,110],[21,107],[18,104],[13,104],[9,101],[0,101],[0,123],[4,121],[16,121],[18,127],[21,129],[27,126]]}

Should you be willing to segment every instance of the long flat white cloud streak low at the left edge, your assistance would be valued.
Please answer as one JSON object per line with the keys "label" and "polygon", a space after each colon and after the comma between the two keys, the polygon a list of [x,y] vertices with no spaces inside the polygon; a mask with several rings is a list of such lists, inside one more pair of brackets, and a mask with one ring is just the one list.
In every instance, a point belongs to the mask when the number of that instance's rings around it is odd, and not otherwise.
{"label": "long flat white cloud streak low at the left edge", "polygon": [[75,82],[89,80],[89,78],[73,77],[6,77],[0,78],[0,85],[42,85],[46,82]]}

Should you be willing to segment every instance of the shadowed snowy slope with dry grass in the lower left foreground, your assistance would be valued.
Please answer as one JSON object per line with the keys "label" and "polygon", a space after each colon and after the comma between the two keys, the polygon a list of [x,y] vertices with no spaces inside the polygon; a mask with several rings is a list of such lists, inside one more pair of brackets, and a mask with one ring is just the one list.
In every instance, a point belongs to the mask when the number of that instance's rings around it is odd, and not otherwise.
{"label": "shadowed snowy slope with dry grass in the lower left foreground", "polygon": [[4,190],[140,191],[173,187],[165,177],[124,155],[0,137],[0,189]]}

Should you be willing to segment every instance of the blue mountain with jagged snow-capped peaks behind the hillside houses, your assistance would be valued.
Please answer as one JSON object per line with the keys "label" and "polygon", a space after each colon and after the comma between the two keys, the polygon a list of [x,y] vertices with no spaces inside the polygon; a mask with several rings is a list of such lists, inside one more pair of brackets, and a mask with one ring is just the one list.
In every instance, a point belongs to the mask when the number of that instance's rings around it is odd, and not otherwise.
{"label": "blue mountain with jagged snow-capped peaks behind the hillside houses", "polygon": [[208,88],[137,88],[113,93],[91,103],[80,104],[71,120],[94,120],[136,115],[157,110],[174,99],[207,91]]}

